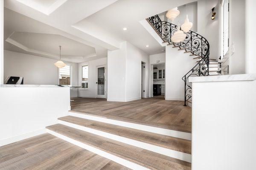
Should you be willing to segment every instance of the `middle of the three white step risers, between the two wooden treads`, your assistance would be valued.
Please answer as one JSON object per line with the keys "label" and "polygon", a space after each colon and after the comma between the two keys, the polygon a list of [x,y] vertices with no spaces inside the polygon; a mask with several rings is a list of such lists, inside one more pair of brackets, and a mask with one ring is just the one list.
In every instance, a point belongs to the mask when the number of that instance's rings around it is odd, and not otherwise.
{"label": "middle of the three white step risers, between the two wooden treads", "polygon": [[112,140],[122,142],[122,143],[125,143],[125,144],[130,144],[132,146],[140,147],[140,148],[143,148],[145,150],[150,150],[150,151],[155,152],[155,153],[160,153],[160,154],[165,155],[165,156],[170,156],[172,158],[180,159],[180,160],[187,161],[187,162],[191,163],[191,154],[188,154],[188,153],[183,153],[183,152],[179,152],[179,151],[176,151],[176,150],[171,150],[171,149],[168,149],[168,148],[165,148],[165,147],[156,146],[154,144],[148,144],[148,143],[145,143],[145,142],[140,142],[140,141],[137,141],[137,140],[134,140],[134,139],[114,135],[112,133],[103,132],[103,131],[100,131],[100,130],[96,130],[96,129],[89,128],[89,127],[84,127],[84,126],[81,126],[81,125],[76,125],[76,124],[73,124],[73,123],[70,123],[70,122],[65,122],[65,121],[62,121],[62,120],[58,120],[58,123],[60,123],[62,125],[69,126],[69,127],[73,127],[73,128],[79,129],[79,130],[83,130],[85,132],[93,133],[95,135],[103,136],[103,137],[108,138],[108,139],[112,139]]}

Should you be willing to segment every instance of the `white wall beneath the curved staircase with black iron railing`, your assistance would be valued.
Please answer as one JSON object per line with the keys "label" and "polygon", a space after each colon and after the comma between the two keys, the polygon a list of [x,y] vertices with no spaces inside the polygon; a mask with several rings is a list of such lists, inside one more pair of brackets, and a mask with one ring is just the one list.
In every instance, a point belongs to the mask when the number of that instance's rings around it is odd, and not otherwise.
{"label": "white wall beneath the curved staircase with black iron railing", "polygon": [[181,78],[196,65],[193,57],[172,48],[172,45],[166,46],[166,100],[184,100],[184,81]]}

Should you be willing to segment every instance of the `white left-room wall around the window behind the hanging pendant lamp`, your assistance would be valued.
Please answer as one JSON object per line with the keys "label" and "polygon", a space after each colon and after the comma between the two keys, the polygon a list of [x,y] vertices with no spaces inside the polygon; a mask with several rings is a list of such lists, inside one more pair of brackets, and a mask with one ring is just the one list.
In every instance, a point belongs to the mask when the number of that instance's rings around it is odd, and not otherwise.
{"label": "white left-room wall around the window behind the hanging pendant lamp", "polygon": [[[4,79],[9,76],[24,77],[26,85],[57,85],[58,68],[56,59],[38,57],[29,54],[4,50]],[[72,65],[72,85],[77,84],[77,64]],[[71,90],[71,96],[77,96],[77,89]]]}

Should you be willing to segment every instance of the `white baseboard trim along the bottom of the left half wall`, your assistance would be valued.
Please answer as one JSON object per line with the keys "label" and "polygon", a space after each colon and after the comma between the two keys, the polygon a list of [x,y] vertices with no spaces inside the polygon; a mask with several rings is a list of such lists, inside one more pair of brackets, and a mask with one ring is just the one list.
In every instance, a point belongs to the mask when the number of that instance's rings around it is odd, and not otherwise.
{"label": "white baseboard trim along the bottom of the left half wall", "polygon": [[11,143],[14,143],[14,142],[18,142],[18,141],[21,141],[23,139],[27,139],[27,138],[31,138],[31,137],[34,137],[34,136],[37,136],[37,135],[41,135],[43,133],[46,133],[45,128],[35,130],[35,131],[29,132],[29,133],[23,133],[23,134],[17,135],[17,136],[12,136],[10,138],[1,139],[0,140],[0,146],[4,146],[6,144],[11,144]]}

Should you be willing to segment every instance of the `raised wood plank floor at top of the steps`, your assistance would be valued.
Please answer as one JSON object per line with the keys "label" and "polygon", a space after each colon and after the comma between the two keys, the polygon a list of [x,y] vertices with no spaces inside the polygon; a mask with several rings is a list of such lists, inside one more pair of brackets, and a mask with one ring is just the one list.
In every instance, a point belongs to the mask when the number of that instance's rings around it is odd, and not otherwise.
{"label": "raised wood plank floor at top of the steps", "polygon": [[191,133],[191,108],[183,101],[145,98],[131,102],[72,98],[71,110],[126,122],[139,123]]}

